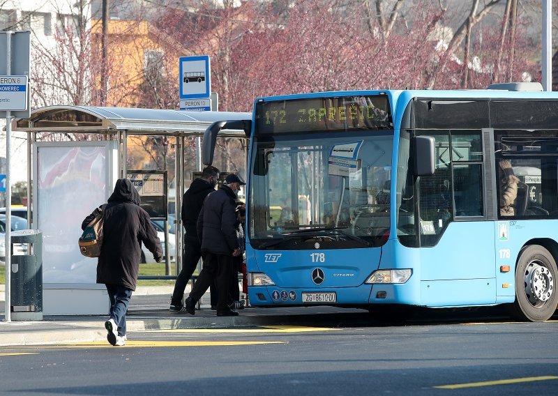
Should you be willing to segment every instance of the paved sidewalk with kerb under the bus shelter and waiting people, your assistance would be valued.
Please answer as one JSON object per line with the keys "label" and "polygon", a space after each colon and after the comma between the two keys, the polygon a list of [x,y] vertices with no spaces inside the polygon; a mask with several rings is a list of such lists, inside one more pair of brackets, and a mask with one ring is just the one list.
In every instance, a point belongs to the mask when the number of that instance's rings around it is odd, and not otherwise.
{"label": "paved sidewalk with kerb under the bus shelter and waiting people", "polygon": [[[3,290],[0,291],[3,300]],[[217,317],[209,309],[209,294],[202,298],[202,309],[195,316],[171,314],[172,287],[139,287],[130,300],[126,325],[128,332],[188,328],[234,328],[239,326],[342,326],[368,323],[368,312],[338,307],[246,308],[238,317]],[[3,321],[0,303],[0,347],[106,341],[106,316],[45,316],[43,321]]]}

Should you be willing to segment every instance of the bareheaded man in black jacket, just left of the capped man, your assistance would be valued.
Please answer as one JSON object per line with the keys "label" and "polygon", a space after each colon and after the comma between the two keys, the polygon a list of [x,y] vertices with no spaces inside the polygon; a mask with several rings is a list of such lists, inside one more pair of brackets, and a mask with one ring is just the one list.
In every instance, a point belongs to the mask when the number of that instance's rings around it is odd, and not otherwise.
{"label": "bareheaded man in black jacket, just left of the capped man", "polygon": [[[204,199],[210,192],[215,191],[215,186],[219,180],[219,169],[216,167],[205,167],[202,177],[196,178],[190,188],[184,193],[182,201],[182,221],[184,223],[184,256],[182,259],[182,271],[176,277],[174,292],[170,300],[169,311],[175,314],[186,312],[182,305],[182,298],[188,280],[194,273],[199,258],[202,257],[202,244],[199,242],[196,231],[197,218],[202,210]],[[212,296],[213,296],[213,290]]]}

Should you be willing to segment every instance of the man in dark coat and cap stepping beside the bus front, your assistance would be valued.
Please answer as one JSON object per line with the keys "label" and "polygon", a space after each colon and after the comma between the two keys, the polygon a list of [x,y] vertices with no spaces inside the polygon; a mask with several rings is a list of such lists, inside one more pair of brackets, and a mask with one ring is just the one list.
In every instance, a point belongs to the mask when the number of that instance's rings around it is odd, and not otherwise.
{"label": "man in dark coat and cap stepping beside the bus front", "polygon": [[197,234],[202,241],[204,268],[199,273],[190,296],[184,301],[189,314],[195,314],[195,303],[202,298],[213,280],[217,281],[217,316],[236,316],[239,313],[227,305],[232,273],[232,258],[241,254],[236,239],[236,195],[244,185],[235,174],[225,178],[225,185],[211,192],[197,219]]}

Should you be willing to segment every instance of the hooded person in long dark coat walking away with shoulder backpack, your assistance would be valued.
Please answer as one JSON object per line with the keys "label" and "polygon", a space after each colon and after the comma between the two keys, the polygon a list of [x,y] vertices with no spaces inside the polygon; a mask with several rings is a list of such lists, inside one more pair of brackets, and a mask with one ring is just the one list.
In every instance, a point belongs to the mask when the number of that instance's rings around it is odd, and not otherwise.
{"label": "hooded person in long dark coat walking away with shoulder backpack", "polygon": [[[82,229],[93,220],[95,213],[85,218]],[[110,298],[110,319],[105,322],[107,340],[112,345],[124,345],[126,310],[136,287],[142,242],[158,263],[163,259],[163,249],[149,214],[140,207],[140,194],[127,178],[116,181],[103,218],[97,283],[105,284]]]}

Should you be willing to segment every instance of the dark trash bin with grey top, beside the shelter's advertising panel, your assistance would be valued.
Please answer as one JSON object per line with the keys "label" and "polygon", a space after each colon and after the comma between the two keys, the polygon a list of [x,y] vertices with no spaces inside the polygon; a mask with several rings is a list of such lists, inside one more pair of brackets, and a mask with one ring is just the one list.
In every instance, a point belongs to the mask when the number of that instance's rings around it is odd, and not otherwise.
{"label": "dark trash bin with grey top, beside the shelter's advertising panel", "polygon": [[[27,244],[27,254],[21,254],[25,250],[20,243]],[[11,245],[11,319],[43,320],[43,234],[36,229],[13,231]]]}

